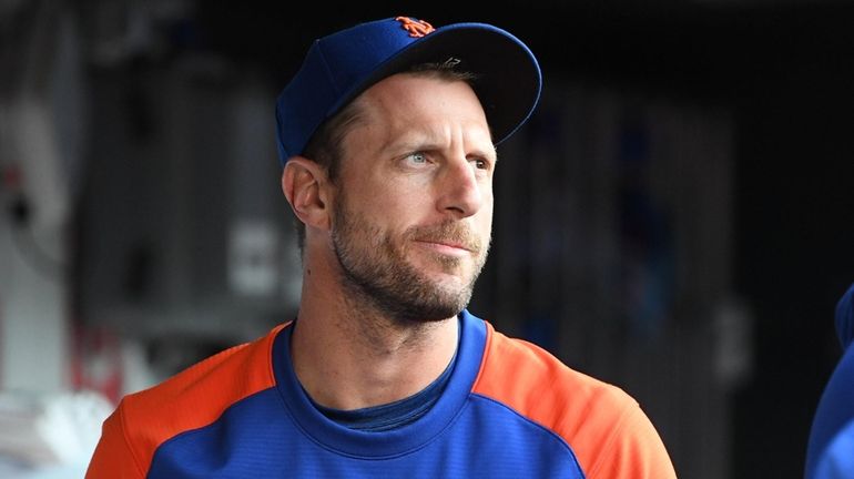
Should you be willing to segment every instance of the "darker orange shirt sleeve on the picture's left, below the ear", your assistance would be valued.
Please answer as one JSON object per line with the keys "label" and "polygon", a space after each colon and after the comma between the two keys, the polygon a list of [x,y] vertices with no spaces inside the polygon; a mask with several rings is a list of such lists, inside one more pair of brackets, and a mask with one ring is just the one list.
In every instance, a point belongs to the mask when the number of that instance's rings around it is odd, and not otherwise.
{"label": "darker orange shirt sleeve on the picture's left, below the ear", "polygon": [[104,421],[85,479],[145,477],[161,444],[214,422],[233,404],[273,387],[273,340],[284,326],[125,396]]}

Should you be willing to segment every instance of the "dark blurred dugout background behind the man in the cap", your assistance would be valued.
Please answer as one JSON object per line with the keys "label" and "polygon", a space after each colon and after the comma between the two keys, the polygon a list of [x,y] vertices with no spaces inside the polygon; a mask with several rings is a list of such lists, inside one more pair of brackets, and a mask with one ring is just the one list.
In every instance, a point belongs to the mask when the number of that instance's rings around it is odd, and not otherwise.
{"label": "dark blurred dugout background behind the man in the cap", "polygon": [[[569,4],[563,4],[569,3]],[[406,14],[538,55],[470,309],[634,396],[682,478],[799,478],[854,282],[854,2],[0,0],[0,476],[291,319],[273,108]]]}

